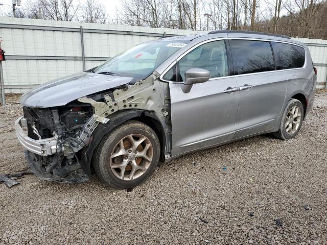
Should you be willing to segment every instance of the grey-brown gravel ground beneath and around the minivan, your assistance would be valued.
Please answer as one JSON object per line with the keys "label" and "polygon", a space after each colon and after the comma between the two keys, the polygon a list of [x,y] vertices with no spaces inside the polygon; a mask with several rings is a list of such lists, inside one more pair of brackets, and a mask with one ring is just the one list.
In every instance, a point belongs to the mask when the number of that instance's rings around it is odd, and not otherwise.
{"label": "grey-brown gravel ground beneath and around the minivan", "polygon": [[[0,107],[0,173],[27,169]],[[75,185],[26,176],[0,184],[2,244],[326,244],[327,91],[299,135],[253,137],[160,164],[132,191],[96,176]],[[226,170],[223,170],[226,167]]]}

